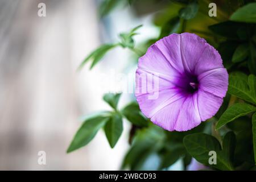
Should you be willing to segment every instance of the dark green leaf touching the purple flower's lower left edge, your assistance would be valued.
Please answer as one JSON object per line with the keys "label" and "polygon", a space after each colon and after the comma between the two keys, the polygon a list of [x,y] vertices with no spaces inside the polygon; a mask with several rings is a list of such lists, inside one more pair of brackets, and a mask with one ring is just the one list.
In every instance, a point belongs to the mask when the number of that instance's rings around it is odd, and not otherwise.
{"label": "dark green leaf touching the purple flower's lower left edge", "polygon": [[134,125],[142,127],[148,126],[149,122],[145,117],[143,117],[137,102],[131,102],[129,105],[125,106],[121,113],[125,115],[126,119]]}

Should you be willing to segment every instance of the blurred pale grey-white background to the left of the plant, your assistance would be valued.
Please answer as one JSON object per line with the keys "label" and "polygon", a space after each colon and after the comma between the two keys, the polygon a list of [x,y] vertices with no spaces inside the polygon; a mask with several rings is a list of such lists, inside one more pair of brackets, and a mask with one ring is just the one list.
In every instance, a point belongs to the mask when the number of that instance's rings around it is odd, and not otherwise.
{"label": "blurred pale grey-white background to the left of the plant", "polygon": [[[46,17],[38,4],[46,3]],[[86,55],[122,31],[143,24],[138,42],[155,38],[151,17],[120,7],[100,18],[96,0],[0,0],[0,169],[115,170],[128,145],[130,125],[114,149],[100,131],[96,138],[66,154],[81,117],[109,109],[98,82],[110,69],[124,72],[133,57],[115,49],[93,71],[76,69]],[[141,9],[140,11],[143,11]],[[132,66],[133,67],[133,66]],[[107,80],[108,81],[108,80]],[[133,94],[123,94],[121,105]],[[46,151],[46,165],[38,152]]]}

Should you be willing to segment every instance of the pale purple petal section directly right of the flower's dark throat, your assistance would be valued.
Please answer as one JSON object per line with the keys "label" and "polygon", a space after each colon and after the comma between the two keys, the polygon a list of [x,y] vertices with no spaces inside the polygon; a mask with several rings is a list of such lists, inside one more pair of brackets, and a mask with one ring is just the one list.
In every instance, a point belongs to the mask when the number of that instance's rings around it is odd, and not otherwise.
{"label": "pale purple petal section directly right of the flower's dark throat", "polygon": [[225,68],[212,69],[199,75],[199,89],[218,97],[225,97],[228,90],[228,72]]}

